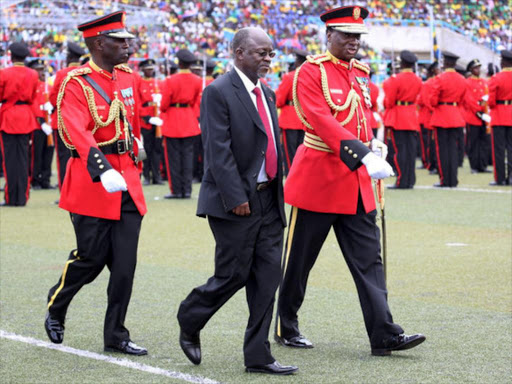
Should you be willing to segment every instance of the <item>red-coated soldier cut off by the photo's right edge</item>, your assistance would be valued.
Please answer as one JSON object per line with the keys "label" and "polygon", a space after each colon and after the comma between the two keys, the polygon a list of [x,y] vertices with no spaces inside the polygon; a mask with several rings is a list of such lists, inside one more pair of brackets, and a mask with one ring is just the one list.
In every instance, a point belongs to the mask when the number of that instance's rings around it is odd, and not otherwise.
{"label": "red-coated soldier cut off by the photo's right edge", "polygon": [[489,107],[494,165],[491,185],[512,185],[512,51],[501,51],[501,72],[489,80]]}

